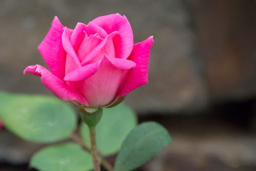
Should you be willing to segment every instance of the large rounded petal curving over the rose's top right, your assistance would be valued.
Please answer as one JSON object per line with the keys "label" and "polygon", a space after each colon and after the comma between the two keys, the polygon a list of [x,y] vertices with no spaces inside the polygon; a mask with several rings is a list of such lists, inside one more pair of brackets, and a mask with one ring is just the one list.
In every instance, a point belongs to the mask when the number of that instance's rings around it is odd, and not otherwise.
{"label": "large rounded petal curving over the rose's top right", "polygon": [[119,35],[114,37],[116,56],[126,59],[133,49],[133,31],[125,16],[110,14],[95,18],[92,23],[102,27],[108,34],[118,31]]}

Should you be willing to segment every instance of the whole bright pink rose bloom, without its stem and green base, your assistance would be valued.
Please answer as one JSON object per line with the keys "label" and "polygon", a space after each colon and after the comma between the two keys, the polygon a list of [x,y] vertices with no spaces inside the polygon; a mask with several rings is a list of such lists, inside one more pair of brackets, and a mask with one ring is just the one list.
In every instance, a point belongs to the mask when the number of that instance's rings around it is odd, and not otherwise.
{"label": "whole bright pink rose bloom, without its stem and green base", "polygon": [[105,106],[147,83],[153,36],[137,44],[125,16],[100,16],[74,30],[55,17],[38,50],[49,69],[29,66],[26,72],[62,100]]}

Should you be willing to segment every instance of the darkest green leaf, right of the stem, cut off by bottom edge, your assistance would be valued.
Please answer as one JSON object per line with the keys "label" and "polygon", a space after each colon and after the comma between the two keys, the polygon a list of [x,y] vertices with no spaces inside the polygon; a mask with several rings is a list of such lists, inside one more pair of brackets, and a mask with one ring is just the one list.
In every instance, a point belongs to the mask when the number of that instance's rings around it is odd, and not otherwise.
{"label": "darkest green leaf, right of the stem, cut off by bottom edge", "polygon": [[145,122],[137,126],[125,138],[115,162],[115,171],[134,170],[150,160],[172,138],[167,130],[156,122]]}

